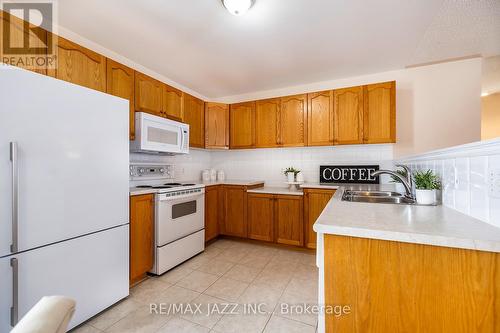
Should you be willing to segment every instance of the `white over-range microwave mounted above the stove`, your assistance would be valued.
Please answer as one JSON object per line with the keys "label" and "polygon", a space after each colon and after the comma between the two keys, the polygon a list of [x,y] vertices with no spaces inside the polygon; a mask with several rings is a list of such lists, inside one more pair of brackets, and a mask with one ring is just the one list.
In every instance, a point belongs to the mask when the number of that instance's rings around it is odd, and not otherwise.
{"label": "white over-range microwave mounted above the stove", "polygon": [[188,154],[189,125],[154,116],[135,113],[135,140],[131,152],[153,154]]}

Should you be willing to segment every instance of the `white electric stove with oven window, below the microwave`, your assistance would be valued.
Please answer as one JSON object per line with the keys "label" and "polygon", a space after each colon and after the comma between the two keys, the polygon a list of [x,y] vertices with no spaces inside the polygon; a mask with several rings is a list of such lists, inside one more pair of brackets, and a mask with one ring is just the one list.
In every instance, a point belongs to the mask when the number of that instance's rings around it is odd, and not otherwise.
{"label": "white electric stove with oven window, below the microwave", "polygon": [[155,191],[157,275],[205,250],[205,185],[173,179],[171,165],[130,166],[130,185]]}

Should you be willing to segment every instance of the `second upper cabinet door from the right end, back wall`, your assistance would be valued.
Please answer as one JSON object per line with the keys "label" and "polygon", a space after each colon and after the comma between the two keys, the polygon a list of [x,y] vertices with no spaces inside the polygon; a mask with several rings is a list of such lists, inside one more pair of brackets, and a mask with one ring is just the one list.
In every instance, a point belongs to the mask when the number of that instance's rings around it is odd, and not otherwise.
{"label": "second upper cabinet door from the right end, back wall", "polygon": [[334,144],[363,143],[363,87],[333,92]]}

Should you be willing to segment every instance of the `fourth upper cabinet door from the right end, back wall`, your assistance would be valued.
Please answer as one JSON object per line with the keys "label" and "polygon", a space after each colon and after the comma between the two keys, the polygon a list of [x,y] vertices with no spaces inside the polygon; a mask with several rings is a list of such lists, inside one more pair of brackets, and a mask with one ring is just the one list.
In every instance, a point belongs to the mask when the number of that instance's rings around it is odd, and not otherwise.
{"label": "fourth upper cabinet door from the right end, back wall", "polygon": [[307,140],[307,95],[281,98],[278,142],[284,147],[305,146]]}

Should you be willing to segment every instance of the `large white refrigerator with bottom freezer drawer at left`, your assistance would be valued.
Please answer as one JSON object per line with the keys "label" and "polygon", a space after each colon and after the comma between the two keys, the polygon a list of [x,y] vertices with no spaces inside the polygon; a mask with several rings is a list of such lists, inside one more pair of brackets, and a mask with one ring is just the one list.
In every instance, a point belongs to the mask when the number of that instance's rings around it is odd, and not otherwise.
{"label": "large white refrigerator with bottom freezer drawer at left", "polygon": [[0,66],[0,332],[46,295],[70,328],[129,293],[128,101]]}

